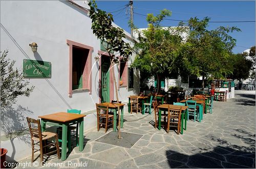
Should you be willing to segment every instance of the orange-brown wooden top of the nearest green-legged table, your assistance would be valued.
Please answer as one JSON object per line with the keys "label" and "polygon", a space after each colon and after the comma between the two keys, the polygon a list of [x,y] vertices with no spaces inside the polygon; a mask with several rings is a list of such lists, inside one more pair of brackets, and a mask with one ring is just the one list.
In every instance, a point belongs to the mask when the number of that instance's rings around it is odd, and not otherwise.
{"label": "orange-brown wooden top of the nearest green-legged table", "polygon": [[68,113],[68,112],[55,112],[54,114],[50,114],[50,115],[38,116],[38,118],[53,120],[56,122],[69,122],[69,121],[73,121],[83,117],[86,117],[86,115],[82,115],[82,114],[79,115],[79,114]]}

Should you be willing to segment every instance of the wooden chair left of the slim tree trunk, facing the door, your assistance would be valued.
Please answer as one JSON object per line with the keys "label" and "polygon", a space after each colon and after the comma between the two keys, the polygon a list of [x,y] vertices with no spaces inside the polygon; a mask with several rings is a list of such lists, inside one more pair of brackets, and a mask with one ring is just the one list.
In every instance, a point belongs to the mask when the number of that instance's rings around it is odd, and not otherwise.
{"label": "wooden chair left of the slim tree trunk, facing the door", "polygon": [[96,103],[97,110],[97,130],[99,131],[100,127],[105,125],[105,132],[108,130],[108,127],[112,125],[114,127],[114,115],[109,115],[109,106],[102,106]]}

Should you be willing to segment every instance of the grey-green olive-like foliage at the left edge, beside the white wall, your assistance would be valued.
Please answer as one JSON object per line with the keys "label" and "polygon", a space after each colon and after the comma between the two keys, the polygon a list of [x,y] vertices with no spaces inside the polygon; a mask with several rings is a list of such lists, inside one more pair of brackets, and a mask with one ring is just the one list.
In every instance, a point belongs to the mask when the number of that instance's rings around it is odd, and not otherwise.
{"label": "grey-green olive-like foliage at the left edge, beside the white wall", "polygon": [[6,58],[7,53],[8,50],[4,50],[1,55],[1,108],[11,106],[18,96],[29,97],[34,89],[33,86],[25,89],[29,82],[24,80],[22,73],[13,68],[15,61],[10,62]]}

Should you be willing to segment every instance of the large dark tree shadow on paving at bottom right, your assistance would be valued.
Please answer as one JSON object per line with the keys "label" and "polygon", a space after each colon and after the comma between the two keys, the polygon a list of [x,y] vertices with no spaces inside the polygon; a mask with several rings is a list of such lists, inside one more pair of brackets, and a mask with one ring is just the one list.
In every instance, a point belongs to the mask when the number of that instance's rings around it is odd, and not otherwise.
{"label": "large dark tree shadow on paving at bottom right", "polygon": [[[168,165],[170,168],[255,168],[255,134],[247,131],[236,130],[240,134],[231,136],[243,140],[243,145],[233,145],[227,140],[216,136],[207,135],[217,143],[217,147],[201,148],[194,155],[182,154],[173,150],[166,150]],[[173,149],[173,148],[170,148]],[[193,153],[193,149],[191,152]]]}

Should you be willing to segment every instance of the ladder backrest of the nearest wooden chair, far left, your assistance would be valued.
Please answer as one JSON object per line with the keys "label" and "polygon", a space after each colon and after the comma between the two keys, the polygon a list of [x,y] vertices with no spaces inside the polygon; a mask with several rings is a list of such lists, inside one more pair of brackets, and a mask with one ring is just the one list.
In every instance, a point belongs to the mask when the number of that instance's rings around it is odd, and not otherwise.
{"label": "ladder backrest of the nearest wooden chair, far left", "polygon": [[42,142],[42,133],[41,133],[41,125],[40,120],[32,119],[27,117],[28,125],[29,125],[29,131],[31,135],[31,139],[33,140],[33,137],[39,138],[39,141]]}

